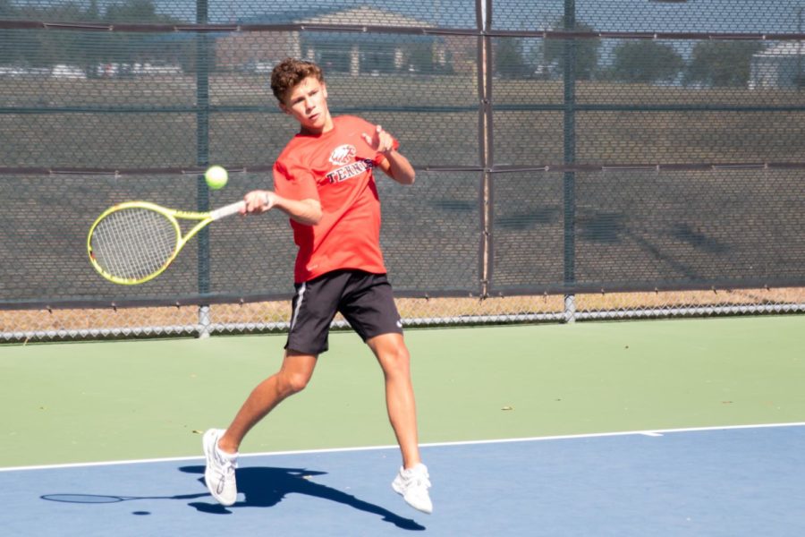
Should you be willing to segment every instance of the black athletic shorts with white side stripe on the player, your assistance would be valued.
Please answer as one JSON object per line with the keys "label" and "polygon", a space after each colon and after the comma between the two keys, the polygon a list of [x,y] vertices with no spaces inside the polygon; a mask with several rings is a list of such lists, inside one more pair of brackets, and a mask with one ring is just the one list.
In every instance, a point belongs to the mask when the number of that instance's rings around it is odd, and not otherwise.
{"label": "black athletic shorts with white side stripe on the player", "polygon": [[303,354],[324,353],[336,312],[364,341],[382,334],[402,334],[402,321],[385,274],[334,270],[294,286],[286,349]]}

